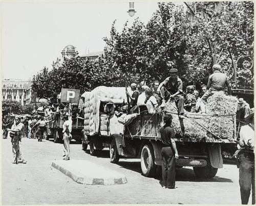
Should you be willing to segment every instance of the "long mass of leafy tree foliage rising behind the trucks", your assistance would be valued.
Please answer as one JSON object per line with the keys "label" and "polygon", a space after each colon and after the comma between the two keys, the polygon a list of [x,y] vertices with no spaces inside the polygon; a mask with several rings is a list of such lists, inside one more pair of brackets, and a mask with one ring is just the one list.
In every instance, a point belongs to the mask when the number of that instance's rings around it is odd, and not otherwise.
{"label": "long mass of leafy tree foliage rising behind the trucks", "polygon": [[158,3],[147,24],[137,18],[118,32],[114,22],[110,37],[104,38],[103,55],[95,60],[65,60],[51,71],[44,68],[33,78],[32,89],[37,97],[50,98],[61,88],[83,92],[100,85],[162,81],[170,67],[178,68],[184,86],[206,84],[215,45],[223,71],[231,77],[232,55],[238,69],[237,86],[253,88],[253,68],[237,62],[241,57],[253,59],[253,2],[189,4],[195,15],[174,3]]}

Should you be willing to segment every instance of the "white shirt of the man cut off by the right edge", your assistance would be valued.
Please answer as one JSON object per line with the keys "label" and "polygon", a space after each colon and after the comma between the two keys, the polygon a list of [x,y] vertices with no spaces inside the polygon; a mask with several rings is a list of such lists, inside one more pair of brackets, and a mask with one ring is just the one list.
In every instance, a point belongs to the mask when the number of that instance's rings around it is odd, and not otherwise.
{"label": "white shirt of the man cut off by the right edge", "polygon": [[254,130],[249,125],[241,127],[240,141],[244,141],[244,143],[254,151]]}

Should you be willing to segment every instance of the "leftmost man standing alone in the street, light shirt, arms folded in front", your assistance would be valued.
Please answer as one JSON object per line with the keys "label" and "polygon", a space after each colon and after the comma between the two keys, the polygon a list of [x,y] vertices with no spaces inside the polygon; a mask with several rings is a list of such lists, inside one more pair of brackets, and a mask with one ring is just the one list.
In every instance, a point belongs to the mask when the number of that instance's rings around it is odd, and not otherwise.
{"label": "leftmost man standing alone in the street, light shirt, arms folded in front", "polygon": [[[11,142],[12,142],[12,153],[13,153],[13,159],[14,159],[12,163],[16,163],[16,161],[18,162],[18,160],[22,160],[22,163],[24,163],[24,164],[27,163],[23,159],[22,151],[21,151],[22,129],[23,129],[23,124],[20,123],[20,118],[15,117],[15,124],[12,125],[11,129],[8,129],[10,131],[10,137],[11,137]],[[17,153],[18,153],[18,157],[16,157]],[[18,158],[18,159],[16,160],[16,158]]]}

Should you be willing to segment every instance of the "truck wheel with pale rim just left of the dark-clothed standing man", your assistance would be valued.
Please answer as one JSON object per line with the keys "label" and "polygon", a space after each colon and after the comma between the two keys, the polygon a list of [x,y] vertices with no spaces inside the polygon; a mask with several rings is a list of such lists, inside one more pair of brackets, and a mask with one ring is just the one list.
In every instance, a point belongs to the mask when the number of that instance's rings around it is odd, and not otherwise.
{"label": "truck wheel with pale rim just left of the dark-clothed standing man", "polygon": [[146,177],[154,177],[156,174],[154,149],[151,144],[145,144],[141,151],[140,166],[142,174]]}

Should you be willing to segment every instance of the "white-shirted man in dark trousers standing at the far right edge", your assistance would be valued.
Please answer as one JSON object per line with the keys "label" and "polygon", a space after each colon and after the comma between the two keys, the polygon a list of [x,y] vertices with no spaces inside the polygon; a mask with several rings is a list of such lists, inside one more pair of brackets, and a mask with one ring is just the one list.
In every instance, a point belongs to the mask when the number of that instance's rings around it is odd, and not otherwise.
{"label": "white-shirted man in dark trousers standing at the far right edge", "polygon": [[252,190],[252,204],[255,204],[255,165],[254,165],[254,108],[245,118],[249,124],[241,127],[238,151],[239,184],[242,204],[248,204]]}

